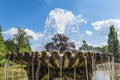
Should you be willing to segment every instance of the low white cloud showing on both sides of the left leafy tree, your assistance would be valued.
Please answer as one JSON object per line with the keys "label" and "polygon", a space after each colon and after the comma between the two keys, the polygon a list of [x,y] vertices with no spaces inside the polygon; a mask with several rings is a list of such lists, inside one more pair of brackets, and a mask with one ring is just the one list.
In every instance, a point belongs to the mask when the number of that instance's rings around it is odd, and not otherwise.
{"label": "low white cloud showing on both sides of the left leafy tree", "polygon": [[[39,33],[39,32],[34,32],[30,29],[24,29],[25,32],[27,33],[27,35],[30,35],[33,37],[33,40],[39,40],[39,38],[43,37],[43,34],[42,33]],[[4,31],[3,34],[6,34],[6,35],[10,35],[10,36],[13,36],[14,34],[16,34],[18,32],[18,29],[15,28],[15,27],[12,27],[10,28],[9,30],[7,31]]]}

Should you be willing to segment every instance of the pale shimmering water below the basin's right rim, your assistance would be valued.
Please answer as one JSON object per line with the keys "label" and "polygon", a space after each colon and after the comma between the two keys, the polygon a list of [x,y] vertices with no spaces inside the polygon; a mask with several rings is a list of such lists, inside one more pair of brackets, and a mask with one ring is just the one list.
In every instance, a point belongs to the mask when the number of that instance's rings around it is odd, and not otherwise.
{"label": "pale shimmering water below the basin's right rim", "polygon": [[114,80],[114,57],[112,57],[111,61],[110,57],[108,57],[107,63],[102,63],[97,66],[92,80]]}

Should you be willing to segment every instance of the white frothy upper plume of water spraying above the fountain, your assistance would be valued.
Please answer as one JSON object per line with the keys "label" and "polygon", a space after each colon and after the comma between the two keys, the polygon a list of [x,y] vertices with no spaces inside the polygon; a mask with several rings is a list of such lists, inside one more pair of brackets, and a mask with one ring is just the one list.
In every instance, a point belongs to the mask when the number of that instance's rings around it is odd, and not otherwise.
{"label": "white frothy upper plume of water spraying above the fountain", "polygon": [[[79,27],[81,23],[86,23],[82,18],[82,15],[74,15],[71,11],[56,8],[51,10],[45,23],[45,28],[53,28],[56,33],[64,33],[65,30],[74,25]],[[73,32],[76,32],[76,28],[71,27]]]}

